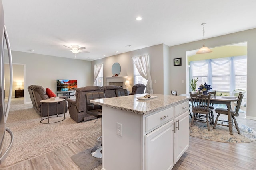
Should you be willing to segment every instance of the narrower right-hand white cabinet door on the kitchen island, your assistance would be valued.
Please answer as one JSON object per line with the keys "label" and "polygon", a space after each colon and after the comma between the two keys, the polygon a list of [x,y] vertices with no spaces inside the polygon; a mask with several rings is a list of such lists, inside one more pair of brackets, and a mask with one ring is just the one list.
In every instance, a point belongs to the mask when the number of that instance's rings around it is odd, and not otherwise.
{"label": "narrower right-hand white cabinet door on the kitchen island", "polygon": [[174,164],[189,147],[189,111],[174,118]]}

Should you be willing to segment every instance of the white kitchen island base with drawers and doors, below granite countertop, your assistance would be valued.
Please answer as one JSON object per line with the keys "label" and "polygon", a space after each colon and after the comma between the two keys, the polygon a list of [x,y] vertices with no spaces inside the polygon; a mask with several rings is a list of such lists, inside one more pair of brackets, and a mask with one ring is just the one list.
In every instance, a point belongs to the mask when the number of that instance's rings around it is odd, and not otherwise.
{"label": "white kitchen island base with drawers and doors, below granite countertop", "polygon": [[102,170],[171,170],[189,146],[188,106],[147,115],[102,106]]}

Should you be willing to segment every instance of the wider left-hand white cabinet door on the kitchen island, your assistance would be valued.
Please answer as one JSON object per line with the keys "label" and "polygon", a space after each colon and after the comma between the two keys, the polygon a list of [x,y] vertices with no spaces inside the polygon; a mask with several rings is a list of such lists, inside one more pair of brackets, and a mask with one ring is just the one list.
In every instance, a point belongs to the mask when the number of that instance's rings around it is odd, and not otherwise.
{"label": "wider left-hand white cabinet door on the kitchen island", "polygon": [[171,170],[173,167],[173,120],[145,137],[146,170]]}

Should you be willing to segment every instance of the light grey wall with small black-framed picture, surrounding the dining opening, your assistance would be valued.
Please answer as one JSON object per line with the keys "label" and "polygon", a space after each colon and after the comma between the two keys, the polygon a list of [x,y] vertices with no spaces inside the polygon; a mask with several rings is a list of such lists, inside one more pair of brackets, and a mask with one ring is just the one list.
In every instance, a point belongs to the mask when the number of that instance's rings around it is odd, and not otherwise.
{"label": "light grey wall with small black-framed picture, surrounding the dining opening", "polygon": [[[256,29],[250,29],[228,35],[222,35],[210,39],[205,39],[207,47],[218,47],[222,45],[235,44],[240,42],[247,42],[248,58],[247,58],[247,106],[246,118],[256,120],[255,112],[255,96],[256,91],[254,86],[256,84]],[[202,47],[202,41],[195,41],[191,43],[181,44],[170,47],[170,89],[177,89],[179,93],[186,93],[186,51],[199,49]],[[214,52],[213,52],[214,53]],[[182,66],[173,66],[173,59],[182,57]],[[181,83],[185,80],[185,83]]]}

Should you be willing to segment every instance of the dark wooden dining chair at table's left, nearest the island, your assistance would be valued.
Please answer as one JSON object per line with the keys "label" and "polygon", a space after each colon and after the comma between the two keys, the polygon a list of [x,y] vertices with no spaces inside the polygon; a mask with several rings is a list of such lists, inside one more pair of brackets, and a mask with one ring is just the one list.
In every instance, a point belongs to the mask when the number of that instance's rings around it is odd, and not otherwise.
{"label": "dark wooden dining chair at table's left, nearest the island", "polygon": [[[212,109],[209,108],[210,105],[210,97],[211,95],[203,95],[203,94],[191,94],[190,92],[190,100],[192,104],[192,112],[193,117],[191,120],[190,126],[193,126],[194,121],[203,122],[207,124],[207,129],[210,131],[210,124],[208,118],[211,120],[210,112]],[[197,115],[205,115],[204,117],[197,117]]]}

